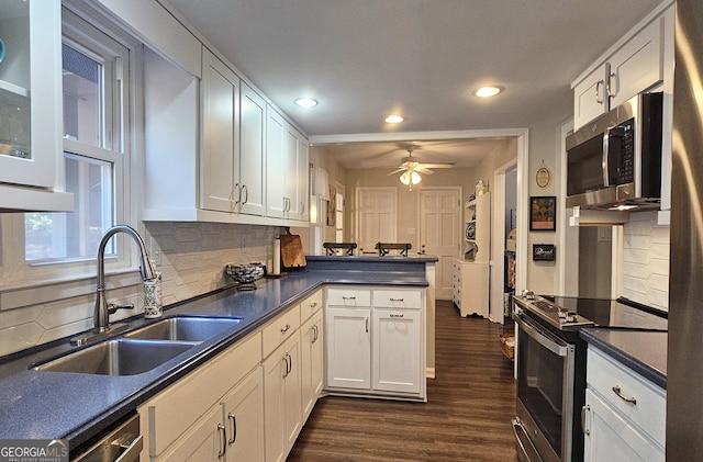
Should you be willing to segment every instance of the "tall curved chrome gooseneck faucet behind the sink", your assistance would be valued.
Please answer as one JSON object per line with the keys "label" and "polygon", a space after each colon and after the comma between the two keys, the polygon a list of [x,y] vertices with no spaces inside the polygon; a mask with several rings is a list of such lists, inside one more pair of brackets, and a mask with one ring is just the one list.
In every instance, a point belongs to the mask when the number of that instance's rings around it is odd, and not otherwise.
{"label": "tall curved chrome gooseneck faucet behind the sink", "polygon": [[92,315],[93,328],[92,334],[79,336],[72,338],[70,341],[74,345],[83,345],[92,340],[98,340],[100,338],[105,337],[108,334],[114,334],[121,330],[126,329],[126,325],[115,325],[110,327],[110,315],[116,312],[118,309],[131,309],[134,305],[115,305],[113,303],[108,303],[108,298],[105,297],[105,270],[104,270],[104,260],[105,260],[105,247],[108,241],[112,236],[118,233],[125,233],[136,241],[140,247],[140,258],[141,258],[141,268],[140,272],[142,273],[142,281],[149,281],[156,279],[156,270],[149,260],[148,252],[146,251],[146,246],[144,245],[144,239],[135,232],[132,227],[126,225],[115,225],[108,229],[105,234],[102,236],[100,240],[100,245],[98,246],[98,292],[96,296],[96,308]]}

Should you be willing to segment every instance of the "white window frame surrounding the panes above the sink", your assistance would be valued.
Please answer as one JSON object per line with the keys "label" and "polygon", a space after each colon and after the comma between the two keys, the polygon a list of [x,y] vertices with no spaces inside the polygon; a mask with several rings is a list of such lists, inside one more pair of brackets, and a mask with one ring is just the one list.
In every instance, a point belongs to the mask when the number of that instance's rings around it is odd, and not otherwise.
{"label": "white window frame surrounding the panes above the sink", "polygon": [[[85,7],[85,4],[83,4]],[[138,183],[141,173],[134,162],[135,153],[140,149],[142,136],[135,129],[142,121],[138,115],[143,108],[142,93],[138,91],[143,78],[143,52],[138,41],[129,33],[109,23],[94,10],[82,11],[71,2],[65,2],[62,11],[63,41],[79,50],[96,49],[110,52],[111,45],[122,48],[125,55],[118,65],[121,84],[110,86],[114,102],[121,103],[120,116],[105,117],[103,149],[71,139],[64,139],[64,151],[78,154],[113,165],[113,215],[114,223],[137,227],[135,194],[132,194],[132,181]],[[108,90],[109,86],[105,86]],[[108,103],[107,103],[108,104]],[[111,111],[114,114],[114,108]],[[57,110],[60,110],[57,109]],[[105,105],[105,111],[109,106]],[[135,122],[136,121],[136,122]],[[110,135],[110,132],[112,135]],[[133,169],[134,172],[133,172]],[[134,173],[134,174],[131,174]],[[58,174],[64,174],[63,162]],[[134,177],[134,179],[133,179]],[[127,272],[138,267],[136,249],[131,239],[123,234],[115,236],[116,255],[105,259],[107,272]],[[96,256],[80,259],[63,259],[57,261],[27,262],[24,255],[24,214],[0,214],[0,290],[32,286],[40,283],[60,282],[81,279],[94,279]]]}

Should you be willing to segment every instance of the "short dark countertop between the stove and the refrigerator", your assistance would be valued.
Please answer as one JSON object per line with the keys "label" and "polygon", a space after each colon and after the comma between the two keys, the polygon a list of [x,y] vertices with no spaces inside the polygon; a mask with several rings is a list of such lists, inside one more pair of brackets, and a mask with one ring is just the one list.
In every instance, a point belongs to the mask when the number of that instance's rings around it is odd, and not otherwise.
{"label": "short dark countertop between the stove and the refrigerator", "polygon": [[667,390],[666,331],[617,328],[581,329],[589,346],[605,352],[623,365]]}

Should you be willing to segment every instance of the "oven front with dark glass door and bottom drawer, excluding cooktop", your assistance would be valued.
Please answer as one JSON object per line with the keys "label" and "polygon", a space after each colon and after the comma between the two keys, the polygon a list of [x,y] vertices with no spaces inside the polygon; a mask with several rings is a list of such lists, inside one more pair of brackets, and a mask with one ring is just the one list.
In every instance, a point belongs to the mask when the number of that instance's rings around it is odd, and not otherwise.
{"label": "oven front with dark glass door and bottom drawer, excluding cooktop", "polygon": [[[576,345],[523,312],[517,336],[517,416],[513,430],[522,461],[571,460]],[[522,453],[521,453],[522,452]]]}

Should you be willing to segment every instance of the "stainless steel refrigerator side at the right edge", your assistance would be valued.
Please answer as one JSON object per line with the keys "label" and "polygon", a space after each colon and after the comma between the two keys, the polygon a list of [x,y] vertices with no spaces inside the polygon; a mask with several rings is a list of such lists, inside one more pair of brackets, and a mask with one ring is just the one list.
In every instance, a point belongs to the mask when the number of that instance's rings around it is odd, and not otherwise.
{"label": "stainless steel refrigerator side at the right edge", "polygon": [[693,461],[703,454],[703,15],[700,0],[676,10],[667,460]]}

